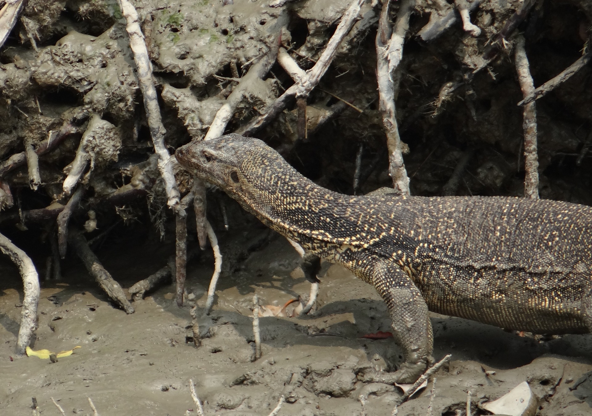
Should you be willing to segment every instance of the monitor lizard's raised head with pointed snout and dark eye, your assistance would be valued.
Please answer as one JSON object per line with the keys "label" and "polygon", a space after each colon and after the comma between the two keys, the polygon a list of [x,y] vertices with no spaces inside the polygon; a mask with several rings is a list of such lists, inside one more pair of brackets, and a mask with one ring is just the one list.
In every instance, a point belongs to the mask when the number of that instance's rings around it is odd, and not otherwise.
{"label": "monitor lizard's raised head with pointed snout and dark eye", "polygon": [[[235,199],[248,200],[259,181],[274,167],[287,163],[259,139],[227,134],[208,141],[192,141],[175,156],[189,173],[220,187]],[[271,167],[271,169],[269,169]]]}

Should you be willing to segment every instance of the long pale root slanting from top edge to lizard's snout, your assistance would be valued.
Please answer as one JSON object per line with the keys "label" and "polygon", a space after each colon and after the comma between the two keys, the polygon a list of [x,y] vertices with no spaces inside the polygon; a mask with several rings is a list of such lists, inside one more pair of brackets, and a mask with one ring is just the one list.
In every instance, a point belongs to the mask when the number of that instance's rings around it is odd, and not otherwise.
{"label": "long pale root slanting from top edge to lizard's snout", "polygon": [[140,18],[136,8],[134,8],[129,0],[118,0],[118,2],[121,8],[121,14],[126,18],[126,30],[130,37],[130,47],[134,54],[134,61],[136,62],[137,77],[144,99],[146,118],[150,128],[154,150],[158,155],[158,169],[165,183],[168,205],[175,207],[181,199],[181,194],[179,194],[179,189],[175,182],[173,167],[170,163],[170,154],[165,145],[166,130],[165,126],[162,125],[158,98],[152,76],[152,65],[148,57],[144,35],[140,29]]}

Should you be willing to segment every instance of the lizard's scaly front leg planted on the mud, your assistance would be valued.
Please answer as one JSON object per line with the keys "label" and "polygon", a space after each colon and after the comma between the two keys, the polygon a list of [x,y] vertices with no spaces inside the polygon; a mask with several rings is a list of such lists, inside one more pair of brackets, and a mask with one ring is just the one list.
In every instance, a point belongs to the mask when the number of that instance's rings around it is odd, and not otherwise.
{"label": "lizard's scaly front leg planted on the mud", "polygon": [[404,352],[405,362],[394,373],[366,371],[364,381],[413,383],[432,360],[433,334],[427,304],[414,282],[388,259],[366,259],[369,281],[385,301],[391,315],[392,336]]}

